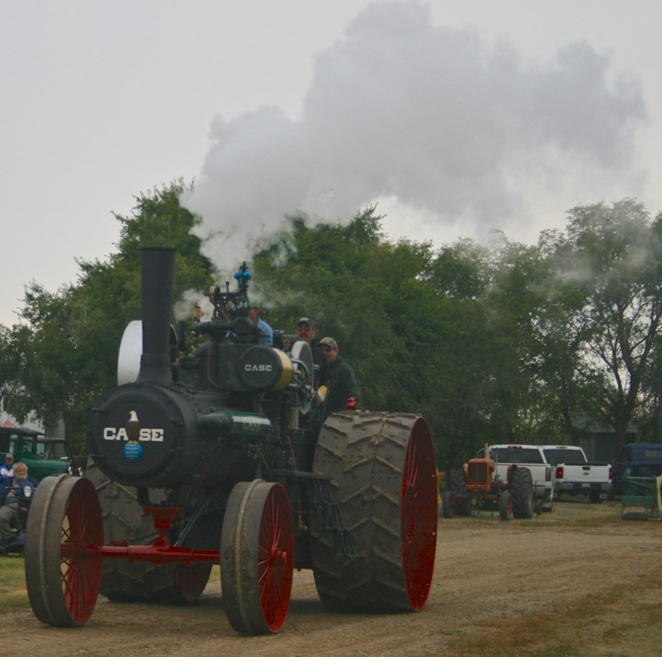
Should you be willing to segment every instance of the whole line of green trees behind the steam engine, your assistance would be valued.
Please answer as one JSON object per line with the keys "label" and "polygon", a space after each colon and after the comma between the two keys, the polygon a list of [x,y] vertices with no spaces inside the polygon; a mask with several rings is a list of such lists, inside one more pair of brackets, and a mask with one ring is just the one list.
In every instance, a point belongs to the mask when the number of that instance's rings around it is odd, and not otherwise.
{"label": "whole line of green trees behind the steam engine", "polygon": [[[76,283],[26,284],[21,321],[0,326],[0,404],[84,449],[86,422],[115,385],[126,324],[140,317],[139,248],[177,248],[175,296],[217,272],[190,233],[200,221],[175,182],[139,195],[106,259],[79,261]],[[576,443],[577,418],[661,440],[662,214],[634,199],[568,211],[534,245],[494,233],[431,242],[383,233],[377,208],[348,222],[288,229],[253,253],[263,318],[292,333],[314,317],[357,373],[363,406],[422,413],[439,463],[485,442]],[[239,265],[240,263],[237,262]]]}

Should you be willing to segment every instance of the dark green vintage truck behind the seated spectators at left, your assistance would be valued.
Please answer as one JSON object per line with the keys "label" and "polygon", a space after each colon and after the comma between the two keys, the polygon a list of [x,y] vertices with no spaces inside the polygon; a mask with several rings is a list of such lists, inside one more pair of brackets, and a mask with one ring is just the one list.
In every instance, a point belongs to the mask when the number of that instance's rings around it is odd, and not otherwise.
{"label": "dark green vintage truck behind the seated spectators at left", "polygon": [[0,427],[0,463],[8,452],[14,455],[14,464],[25,463],[28,475],[37,481],[48,475],[80,473],[81,458],[74,456],[70,444],[62,438],[46,438],[43,431]]}

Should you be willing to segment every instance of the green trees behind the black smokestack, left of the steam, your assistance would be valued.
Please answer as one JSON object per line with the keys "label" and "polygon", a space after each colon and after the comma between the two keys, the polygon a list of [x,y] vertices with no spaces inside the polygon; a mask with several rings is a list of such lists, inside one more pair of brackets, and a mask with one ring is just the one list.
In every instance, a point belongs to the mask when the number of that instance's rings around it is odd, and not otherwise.
{"label": "green trees behind the black smokestack, left of the steam", "polygon": [[116,215],[118,251],[104,262],[79,261],[76,285],[57,293],[26,286],[23,322],[1,335],[1,403],[19,422],[30,413],[47,426],[62,418],[68,438],[83,447],[90,409],[116,384],[123,330],[140,317],[141,246],[177,248],[175,295],[211,284],[212,266],[190,234],[199,219],[179,204],[183,189],[177,182],[142,194],[132,215]]}

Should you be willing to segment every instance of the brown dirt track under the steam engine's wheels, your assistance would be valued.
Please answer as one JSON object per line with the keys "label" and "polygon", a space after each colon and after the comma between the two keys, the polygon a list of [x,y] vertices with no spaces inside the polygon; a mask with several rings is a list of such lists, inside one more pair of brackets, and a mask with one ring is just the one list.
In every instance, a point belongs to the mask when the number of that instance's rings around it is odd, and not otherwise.
{"label": "brown dirt track under the steam engine's wheels", "polygon": [[332,614],[317,598],[312,573],[303,571],[295,573],[281,632],[238,636],[223,613],[214,572],[191,607],[100,598],[86,627],[55,629],[21,610],[3,614],[1,634],[20,637],[21,652],[31,656],[459,654],[458,636],[473,636],[486,623],[574,604],[659,565],[661,524],[620,520],[617,507],[572,501],[532,520],[440,518],[432,591],[418,614]]}

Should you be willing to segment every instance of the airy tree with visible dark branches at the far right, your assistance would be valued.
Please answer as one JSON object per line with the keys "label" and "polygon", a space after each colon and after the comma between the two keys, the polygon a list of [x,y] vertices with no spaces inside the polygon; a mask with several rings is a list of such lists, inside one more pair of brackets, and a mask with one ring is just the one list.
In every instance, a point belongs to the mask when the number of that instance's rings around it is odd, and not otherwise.
{"label": "airy tree with visible dark branches at the far right", "polygon": [[542,240],[549,255],[536,315],[541,371],[556,387],[568,433],[576,431],[574,409],[611,426],[623,444],[651,398],[659,359],[660,224],[633,199],[569,215],[565,234]]}

